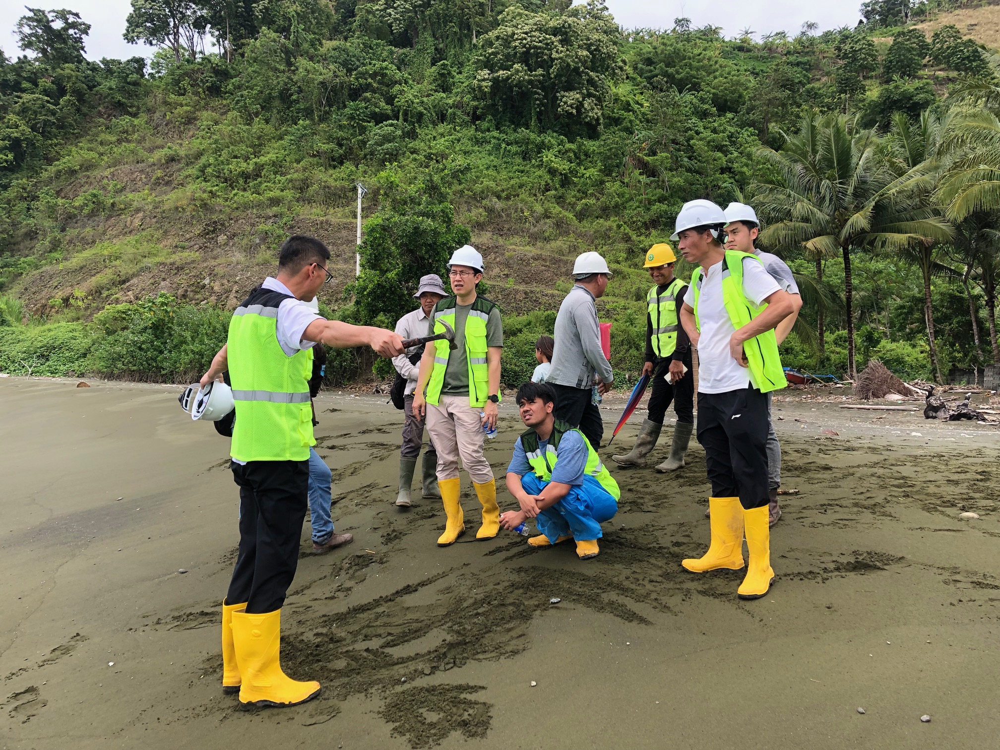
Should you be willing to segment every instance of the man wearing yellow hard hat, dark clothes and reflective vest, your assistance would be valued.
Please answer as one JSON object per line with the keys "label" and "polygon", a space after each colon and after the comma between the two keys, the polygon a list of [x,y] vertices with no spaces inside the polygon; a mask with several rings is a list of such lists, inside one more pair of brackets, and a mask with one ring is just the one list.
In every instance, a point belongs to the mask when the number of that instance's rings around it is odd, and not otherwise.
{"label": "man wearing yellow hard hat, dark clothes and reflective vest", "polygon": [[649,414],[643,420],[639,436],[629,453],[611,458],[619,466],[645,466],[646,455],[653,450],[663,429],[663,418],[673,401],[677,424],[674,427],[670,456],[657,471],[676,471],[684,466],[691,432],[694,429],[694,376],[691,373],[691,346],[680,325],[687,282],[674,276],[677,256],[666,242],[649,248],[643,267],[656,284],[646,295],[646,364],[644,375],[651,375],[652,394]]}

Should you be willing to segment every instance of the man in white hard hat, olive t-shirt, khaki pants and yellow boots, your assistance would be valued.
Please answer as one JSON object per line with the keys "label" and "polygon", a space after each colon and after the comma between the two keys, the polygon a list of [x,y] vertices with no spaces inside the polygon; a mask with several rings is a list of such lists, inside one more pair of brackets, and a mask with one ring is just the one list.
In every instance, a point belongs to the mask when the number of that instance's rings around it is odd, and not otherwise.
{"label": "man in white hard hat, olive t-shirt, khaki pants and yellow boots", "polygon": [[500,309],[476,294],[476,284],[483,278],[483,256],[471,245],[452,254],[448,278],[455,294],[434,306],[428,333],[444,333],[447,323],[455,331],[456,346],[452,349],[449,342],[436,341],[424,350],[412,406],[417,419],[427,415],[427,430],[438,454],[438,489],[448,518],[439,547],[454,544],[465,533],[459,500],[460,457],[482,505],[476,539],[492,539],[500,533],[496,482],[483,455],[483,428],[492,431],[496,427],[500,403]]}

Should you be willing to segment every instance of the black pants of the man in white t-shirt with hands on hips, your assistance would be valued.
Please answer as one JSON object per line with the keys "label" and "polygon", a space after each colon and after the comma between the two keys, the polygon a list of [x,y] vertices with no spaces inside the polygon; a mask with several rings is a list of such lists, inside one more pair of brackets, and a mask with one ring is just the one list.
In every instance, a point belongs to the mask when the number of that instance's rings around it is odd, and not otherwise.
{"label": "black pants of the man in white t-shirt with hands on hips", "polygon": [[698,442],[713,497],[767,505],[767,396],[755,388],[698,394]]}

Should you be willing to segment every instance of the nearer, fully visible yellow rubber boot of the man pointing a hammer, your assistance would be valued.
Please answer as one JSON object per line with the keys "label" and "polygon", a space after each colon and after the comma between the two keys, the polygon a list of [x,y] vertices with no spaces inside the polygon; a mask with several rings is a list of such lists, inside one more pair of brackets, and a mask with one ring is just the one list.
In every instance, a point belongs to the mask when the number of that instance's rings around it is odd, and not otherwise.
{"label": "nearer, fully visible yellow rubber boot of the man pointing a hammer", "polygon": [[319,694],[318,682],[299,682],[281,670],[281,610],[233,612],[233,645],[243,684],[243,708],[295,706]]}

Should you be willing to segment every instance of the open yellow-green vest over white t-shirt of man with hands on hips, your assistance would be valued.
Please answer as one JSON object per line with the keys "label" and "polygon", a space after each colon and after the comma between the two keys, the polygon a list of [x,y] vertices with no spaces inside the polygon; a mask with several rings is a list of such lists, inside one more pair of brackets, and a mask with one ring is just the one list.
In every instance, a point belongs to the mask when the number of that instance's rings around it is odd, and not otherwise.
{"label": "open yellow-green vest over white t-shirt of man with hands on hips", "polygon": [[[725,257],[726,267],[722,269],[722,303],[726,307],[729,321],[733,324],[733,328],[737,330],[756,318],[767,308],[766,302],[757,307],[743,293],[743,261],[746,258],[752,258],[756,263],[761,263],[760,258],[751,253],[727,250]],[[761,266],[763,265],[761,263]],[[698,318],[698,297],[701,294],[702,283],[701,266],[699,266],[691,274],[691,289],[694,295],[694,319],[699,331],[701,330],[701,321]],[[747,363],[750,365],[751,380],[761,393],[776,391],[788,385],[788,381],[785,380],[785,371],[781,366],[781,355],[778,353],[778,340],[775,338],[773,328],[743,342],[743,353],[746,355]]]}

